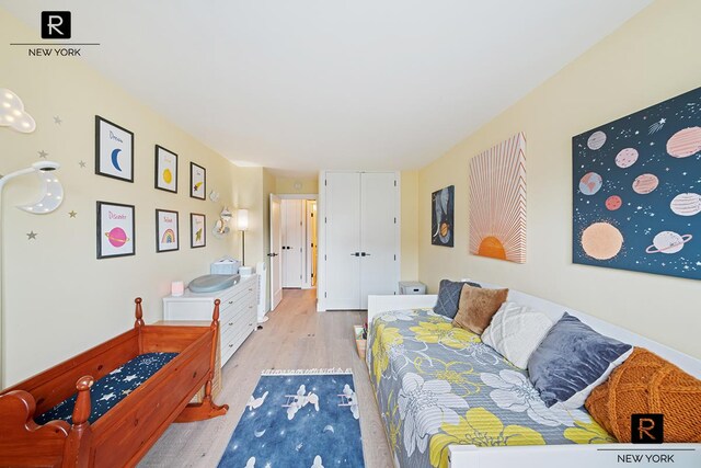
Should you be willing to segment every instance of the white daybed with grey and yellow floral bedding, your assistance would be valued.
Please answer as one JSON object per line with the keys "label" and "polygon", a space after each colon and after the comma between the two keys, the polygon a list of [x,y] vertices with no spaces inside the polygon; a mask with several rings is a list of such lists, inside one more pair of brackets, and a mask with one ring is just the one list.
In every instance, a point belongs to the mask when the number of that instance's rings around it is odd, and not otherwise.
{"label": "white daybed with grey and yellow floral bedding", "polygon": [[[662,453],[673,454],[675,466],[701,466],[700,444],[618,444],[584,407],[547,408],[526,370],[434,313],[436,299],[369,296],[366,361],[397,467],[604,467],[631,453],[621,449],[642,450],[635,452],[641,456],[675,450]],[[698,359],[594,317],[516,290],[508,300],[554,320],[566,310],[600,333],[701,377]]]}

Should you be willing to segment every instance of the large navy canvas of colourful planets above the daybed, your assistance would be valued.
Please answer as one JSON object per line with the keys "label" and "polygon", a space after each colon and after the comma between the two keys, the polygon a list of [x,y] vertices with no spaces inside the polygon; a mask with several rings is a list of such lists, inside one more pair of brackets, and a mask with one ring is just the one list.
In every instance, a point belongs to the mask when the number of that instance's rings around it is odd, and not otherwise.
{"label": "large navy canvas of colourful planets above the daybed", "polygon": [[701,279],[701,88],[572,139],[573,262]]}

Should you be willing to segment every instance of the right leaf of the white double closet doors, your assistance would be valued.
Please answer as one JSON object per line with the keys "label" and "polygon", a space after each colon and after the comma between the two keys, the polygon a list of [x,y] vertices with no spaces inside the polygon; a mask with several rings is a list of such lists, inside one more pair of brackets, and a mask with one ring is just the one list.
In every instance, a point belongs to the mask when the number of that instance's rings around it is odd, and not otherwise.
{"label": "right leaf of the white double closet doors", "polygon": [[365,172],[360,185],[360,301],[367,309],[369,294],[395,294],[399,287],[399,189],[391,172]]}

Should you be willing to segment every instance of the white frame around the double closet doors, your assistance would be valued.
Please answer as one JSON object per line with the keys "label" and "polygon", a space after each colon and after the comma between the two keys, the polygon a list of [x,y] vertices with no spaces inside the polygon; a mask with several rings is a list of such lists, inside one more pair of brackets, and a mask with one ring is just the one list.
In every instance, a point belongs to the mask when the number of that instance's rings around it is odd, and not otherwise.
{"label": "white frame around the double closet doors", "polygon": [[[397,224],[394,225],[394,238],[397,240],[397,265],[395,265],[395,276],[401,279],[402,272],[402,237],[401,237],[401,226],[402,226],[402,173],[400,171],[361,171],[361,170],[333,170],[325,169],[319,171],[319,199],[317,201],[317,311],[325,312],[326,311],[326,283],[324,281],[326,275],[326,262],[324,258],[326,255],[326,206],[324,204],[326,197],[326,173],[329,172],[388,172],[394,174],[394,180],[397,181]],[[397,285],[399,290],[399,283]]]}

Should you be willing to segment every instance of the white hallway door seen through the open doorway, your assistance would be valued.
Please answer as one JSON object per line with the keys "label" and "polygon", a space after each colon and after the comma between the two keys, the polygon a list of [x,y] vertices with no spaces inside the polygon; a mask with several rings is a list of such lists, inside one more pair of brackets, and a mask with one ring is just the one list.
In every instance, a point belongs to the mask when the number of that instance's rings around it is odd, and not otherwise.
{"label": "white hallway door seen through the open doorway", "polygon": [[302,287],[302,201],[283,201],[283,287]]}

